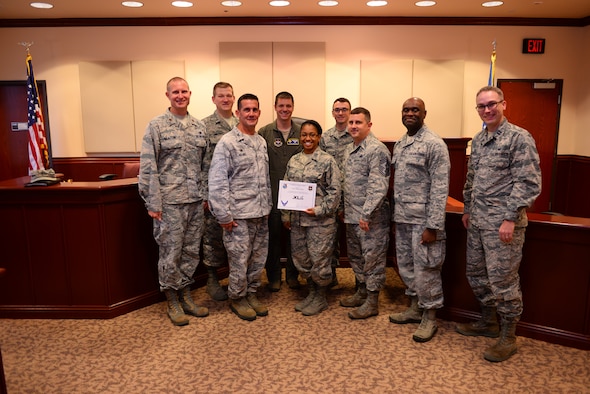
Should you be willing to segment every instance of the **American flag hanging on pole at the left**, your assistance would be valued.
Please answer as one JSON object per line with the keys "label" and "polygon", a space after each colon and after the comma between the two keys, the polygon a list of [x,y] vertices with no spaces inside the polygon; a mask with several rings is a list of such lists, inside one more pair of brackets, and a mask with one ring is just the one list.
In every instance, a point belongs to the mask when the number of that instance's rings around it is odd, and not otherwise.
{"label": "American flag hanging on pole at the left", "polygon": [[49,149],[45,123],[39,104],[37,81],[33,75],[33,57],[27,54],[27,103],[29,124],[29,172],[49,168]]}

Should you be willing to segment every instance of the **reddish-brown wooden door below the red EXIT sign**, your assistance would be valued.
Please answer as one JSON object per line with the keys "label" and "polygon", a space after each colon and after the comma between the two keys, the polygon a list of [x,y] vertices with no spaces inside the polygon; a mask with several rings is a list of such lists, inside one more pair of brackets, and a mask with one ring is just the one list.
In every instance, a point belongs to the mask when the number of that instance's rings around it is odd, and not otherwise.
{"label": "reddish-brown wooden door below the red EXIT sign", "polygon": [[563,80],[503,79],[498,87],[504,91],[508,121],[528,130],[537,143],[543,186],[530,211],[551,211]]}

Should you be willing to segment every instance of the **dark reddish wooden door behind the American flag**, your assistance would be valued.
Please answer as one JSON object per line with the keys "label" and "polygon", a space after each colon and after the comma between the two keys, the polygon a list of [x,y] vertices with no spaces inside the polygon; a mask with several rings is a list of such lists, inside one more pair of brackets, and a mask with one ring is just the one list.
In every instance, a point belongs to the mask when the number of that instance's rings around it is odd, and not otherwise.
{"label": "dark reddish wooden door behind the American flag", "polygon": [[[37,87],[51,160],[45,81],[37,81]],[[27,82],[0,81],[0,180],[29,174],[29,132],[28,129],[13,131],[14,122],[27,124]]]}

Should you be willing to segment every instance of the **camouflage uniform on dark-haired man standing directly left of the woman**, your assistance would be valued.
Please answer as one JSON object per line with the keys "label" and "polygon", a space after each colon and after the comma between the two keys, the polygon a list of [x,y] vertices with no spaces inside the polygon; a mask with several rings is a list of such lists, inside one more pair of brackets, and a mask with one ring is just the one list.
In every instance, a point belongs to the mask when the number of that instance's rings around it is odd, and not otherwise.
{"label": "camouflage uniform on dark-haired man standing directly left of the woman", "polygon": [[223,232],[232,299],[255,293],[260,286],[268,252],[270,199],[266,143],[234,127],[219,140],[209,171],[211,213],[219,223],[238,224]]}

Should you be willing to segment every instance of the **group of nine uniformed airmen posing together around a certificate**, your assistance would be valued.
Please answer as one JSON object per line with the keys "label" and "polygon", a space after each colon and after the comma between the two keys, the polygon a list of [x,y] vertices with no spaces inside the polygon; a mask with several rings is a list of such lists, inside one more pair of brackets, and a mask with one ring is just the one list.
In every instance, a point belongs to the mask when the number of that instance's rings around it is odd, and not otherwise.
{"label": "group of nine uniformed airmen posing together around a certificate", "polygon": [[[346,98],[333,102],[336,124],[323,132],[318,122],[293,117],[289,92],[276,95],[276,120],[259,129],[258,97],[240,96],[234,112],[236,99],[227,82],[215,84],[215,112],[202,121],[188,112],[186,80],[168,81],[166,96],[170,107],[149,123],[143,139],[139,192],[154,219],[159,284],[174,325],[188,324],[188,315],[209,314],[191,297],[201,246],[207,293],[217,301],[229,298],[239,318],[268,315],[257,291],[264,269],[268,289],[280,291],[281,256],[287,257],[288,286],[300,287],[301,279],[308,289],[295,310],[305,316],[321,313],[328,308],[326,292],[338,283],[342,232],[356,290],[340,305],[351,308],[351,319],[376,316],[392,234],[410,305],[389,320],[417,323],[417,342],[433,338],[436,311],[444,301],[450,160],[445,142],[424,123],[422,99],[411,97],[402,104],[407,132],[392,155],[371,132],[369,110],[352,108]],[[466,274],[482,315],[456,327],[463,335],[497,337],[484,352],[494,362],[517,350],[526,208],[541,190],[534,139],[506,120],[505,108],[500,89],[478,91],[476,110],[484,127],[472,141],[463,224]],[[281,180],[315,184],[314,206],[280,209]],[[229,266],[227,291],[217,276],[224,264]]]}

